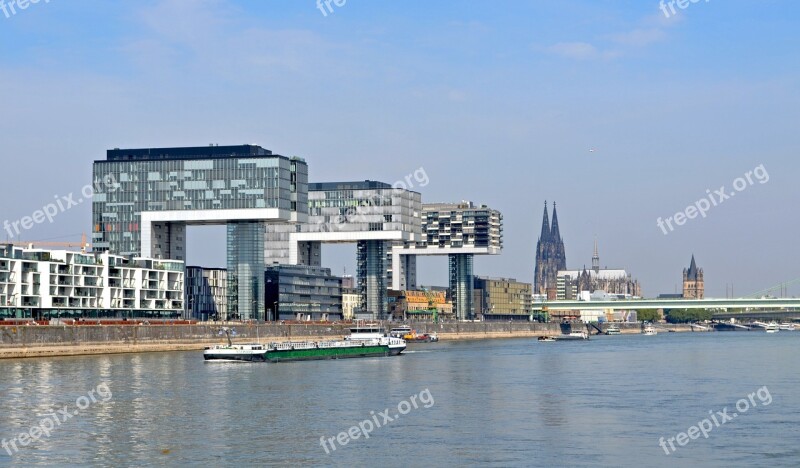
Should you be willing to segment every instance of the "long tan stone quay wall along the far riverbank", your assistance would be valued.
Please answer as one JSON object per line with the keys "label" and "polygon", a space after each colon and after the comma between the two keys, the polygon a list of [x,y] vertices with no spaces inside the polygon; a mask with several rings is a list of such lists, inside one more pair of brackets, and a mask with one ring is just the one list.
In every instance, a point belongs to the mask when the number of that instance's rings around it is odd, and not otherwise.
{"label": "long tan stone quay wall along the far riverbank", "polygon": [[[385,323],[387,328],[396,323]],[[441,340],[471,340],[551,336],[558,323],[454,322],[411,323],[418,333],[436,333]],[[348,334],[349,324],[231,324],[235,342],[336,339]],[[574,324],[575,329],[584,329]],[[639,333],[639,324],[620,324],[623,333]],[[660,325],[676,331],[685,326]],[[74,356],[148,351],[190,351],[220,343],[219,324],[126,326],[0,326],[0,359]]]}

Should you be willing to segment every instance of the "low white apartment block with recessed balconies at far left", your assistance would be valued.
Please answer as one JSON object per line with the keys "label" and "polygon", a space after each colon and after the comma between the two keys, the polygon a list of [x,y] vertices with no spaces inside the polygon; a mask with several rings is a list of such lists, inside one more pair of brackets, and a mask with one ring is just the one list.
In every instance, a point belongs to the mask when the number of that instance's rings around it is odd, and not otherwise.
{"label": "low white apartment block with recessed balconies at far left", "polygon": [[184,263],[0,245],[2,318],[179,318]]}

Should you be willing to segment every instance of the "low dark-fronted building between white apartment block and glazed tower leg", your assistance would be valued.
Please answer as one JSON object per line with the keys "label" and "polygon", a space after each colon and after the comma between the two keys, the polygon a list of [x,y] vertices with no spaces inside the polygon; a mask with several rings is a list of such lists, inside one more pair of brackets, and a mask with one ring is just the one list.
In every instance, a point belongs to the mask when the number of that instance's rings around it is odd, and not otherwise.
{"label": "low dark-fronted building between white apartment block and glazed tower leg", "polygon": [[228,270],[186,267],[186,313],[192,320],[231,320],[228,316]]}

